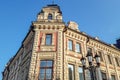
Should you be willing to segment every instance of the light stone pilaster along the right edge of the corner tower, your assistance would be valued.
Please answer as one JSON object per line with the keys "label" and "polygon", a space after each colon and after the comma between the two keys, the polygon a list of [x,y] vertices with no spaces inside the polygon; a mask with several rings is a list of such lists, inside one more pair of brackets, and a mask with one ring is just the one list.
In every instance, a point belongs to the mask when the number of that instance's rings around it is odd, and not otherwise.
{"label": "light stone pilaster along the right edge of the corner tower", "polygon": [[56,59],[56,80],[63,80],[63,36],[62,31],[58,31],[58,51]]}

